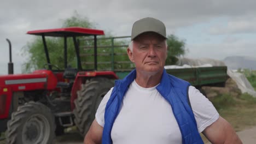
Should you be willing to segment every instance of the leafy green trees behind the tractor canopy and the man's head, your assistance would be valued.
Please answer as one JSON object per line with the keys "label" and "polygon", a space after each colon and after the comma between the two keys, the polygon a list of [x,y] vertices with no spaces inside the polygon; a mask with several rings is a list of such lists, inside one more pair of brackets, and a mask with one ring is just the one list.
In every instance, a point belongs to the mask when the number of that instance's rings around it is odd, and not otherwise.
{"label": "leafy green trees behind the tractor canopy and the man's head", "polygon": [[[89,21],[87,17],[79,15],[77,12],[74,13],[72,17],[69,17],[68,19],[63,20],[62,27],[86,27],[86,28],[96,28],[96,23],[92,23]],[[112,37],[110,32],[105,33],[106,35],[101,36],[101,38],[106,37]],[[86,37],[88,39],[88,37]],[[89,37],[90,38],[90,37]],[[93,37],[91,37],[93,38]],[[99,37],[97,37],[99,38]],[[93,49],[84,49],[85,46],[93,45],[94,42],[91,40],[84,40],[84,38],[79,40],[79,47],[80,47],[80,55],[81,55],[81,61],[82,62],[94,62],[94,57],[91,56],[83,56],[83,54],[92,54],[94,53]],[[111,40],[97,40],[97,45],[111,45]],[[129,41],[127,40],[117,40],[115,41],[115,45],[127,45]],[[48,46],[48,52],[50,57],[50,62],[60,69],[64,69],[64,57],[63,57],[63,47],[64,47],[64,40],[63,38],[53,38],[53,37],[46,37],[46,44]],[[166,61],[166,64],[174,64],[174,62],[177,61],[177,58],[175,56],[181,56],[184,54],[184,41],[179,40],[174,35],[168,35],[167,44],[169,46],[168,50],[168,58]],[[119,47],[115,48],[115,53],[126,53],[127,47]],[[107,64],[106,62],[111,61],[110,53],[112,52],[112,49],[110,47],[105,47],[101,49],[97,49],[98,53],[109,53],[108,56],[98,56],[98,62],[105,62],[105,64],[98,64],[98,69],[100,70],[110,70],[111,64]],[[44,48],[43,48],[43,41],[41,37],[35,37],[32,41],[28,42],[25,47],[23,47],[23,55],[29,56],[26,63],[23,64],[22,72],[30,72],[35,69],[42,69],[44,68],[46,64],[46,58],[44,54]],[[131,63],[127,63],[127,61],[130,61],[127,55],[115,55],[114,61],[122,61],[126,63],[115,63],[114,69],[131,69],[134,67]],[[74,50],[74,44],[73,39],[68,38],[67,39],[67,62],[68,65],[71,65],[72,67],[77,67],[77,58],[75,56],[75,50]],[[86,67],[86,69],[93,69],[93,64],[82,64],[83,68]],[[45,67],[47,68],[47,67]]]}

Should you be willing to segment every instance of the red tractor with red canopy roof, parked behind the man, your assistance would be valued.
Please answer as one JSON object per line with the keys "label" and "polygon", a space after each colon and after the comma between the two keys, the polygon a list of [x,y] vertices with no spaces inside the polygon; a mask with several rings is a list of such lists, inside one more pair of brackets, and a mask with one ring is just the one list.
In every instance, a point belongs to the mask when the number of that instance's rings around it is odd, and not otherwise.
{"label": "red tractor with red canopy roof, parked behind the man", "polygon": [[[0,134],[7,130],[8,143],[52,143],[66,127],[77,125],[83,136],[89,130],[104,94],[118,76],[97,71],[97,35],[104,32],[80,27],[29,31],[40,35],[46,55],[45,68],[31,74],[0,76]],[[78,36],[94,36],[94,69],[82,68]],[[61,70],[50,62],[45,37],[63,37]],[[72,37],[77,68],[68,66],[67,38]],[[11,65],[11,64],[10,64]],[[10,70],[11,71],[11,70]]]}

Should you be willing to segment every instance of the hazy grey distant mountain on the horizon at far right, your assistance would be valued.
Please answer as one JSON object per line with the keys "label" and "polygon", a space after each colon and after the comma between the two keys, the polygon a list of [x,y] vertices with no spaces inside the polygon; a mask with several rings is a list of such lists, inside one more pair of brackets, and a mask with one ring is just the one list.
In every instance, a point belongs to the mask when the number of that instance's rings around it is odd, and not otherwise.
{"label": "hazy grey distant mountain on the horizon at far right", "polygon": [[230,69],[242,68],[242,69],[256,70],[256,58],[243,57],[243,56],[230,56],[230,57],[226,57],[223,61]]}

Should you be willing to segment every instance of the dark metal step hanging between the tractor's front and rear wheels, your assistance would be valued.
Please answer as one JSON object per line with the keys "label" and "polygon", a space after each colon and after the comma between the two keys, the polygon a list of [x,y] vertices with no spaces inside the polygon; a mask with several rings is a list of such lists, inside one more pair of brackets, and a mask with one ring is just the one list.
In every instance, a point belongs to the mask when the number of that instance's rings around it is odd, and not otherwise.
{"label": "dark metal step hanging between the tractor's front and rear wheels", "polygon": [[63,127],[71,127],[74,125],[73,122],[73,112],[59,112],[54,113],[54,116],[59,119],[60,125]]}

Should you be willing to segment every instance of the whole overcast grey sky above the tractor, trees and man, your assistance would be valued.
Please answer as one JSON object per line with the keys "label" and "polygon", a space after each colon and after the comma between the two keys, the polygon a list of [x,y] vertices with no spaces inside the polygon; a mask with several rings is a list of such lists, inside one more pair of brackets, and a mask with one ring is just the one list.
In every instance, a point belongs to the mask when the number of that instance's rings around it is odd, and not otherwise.
{"label": "whole overcast grey sky above the tractor, trees and man", "polygon": [[116,36],[131,35],[133,22],[155,17],[165,23],[167,34],[185,40],[185,57],[224,59],[256,58],[255,0],[2,0],[0,3],[0,74],[7,74],[9,38],[13,45],[15,73],[21,73],[22,47],[32,40],[27,31],[59,28],[74,11],[97,28]]}

